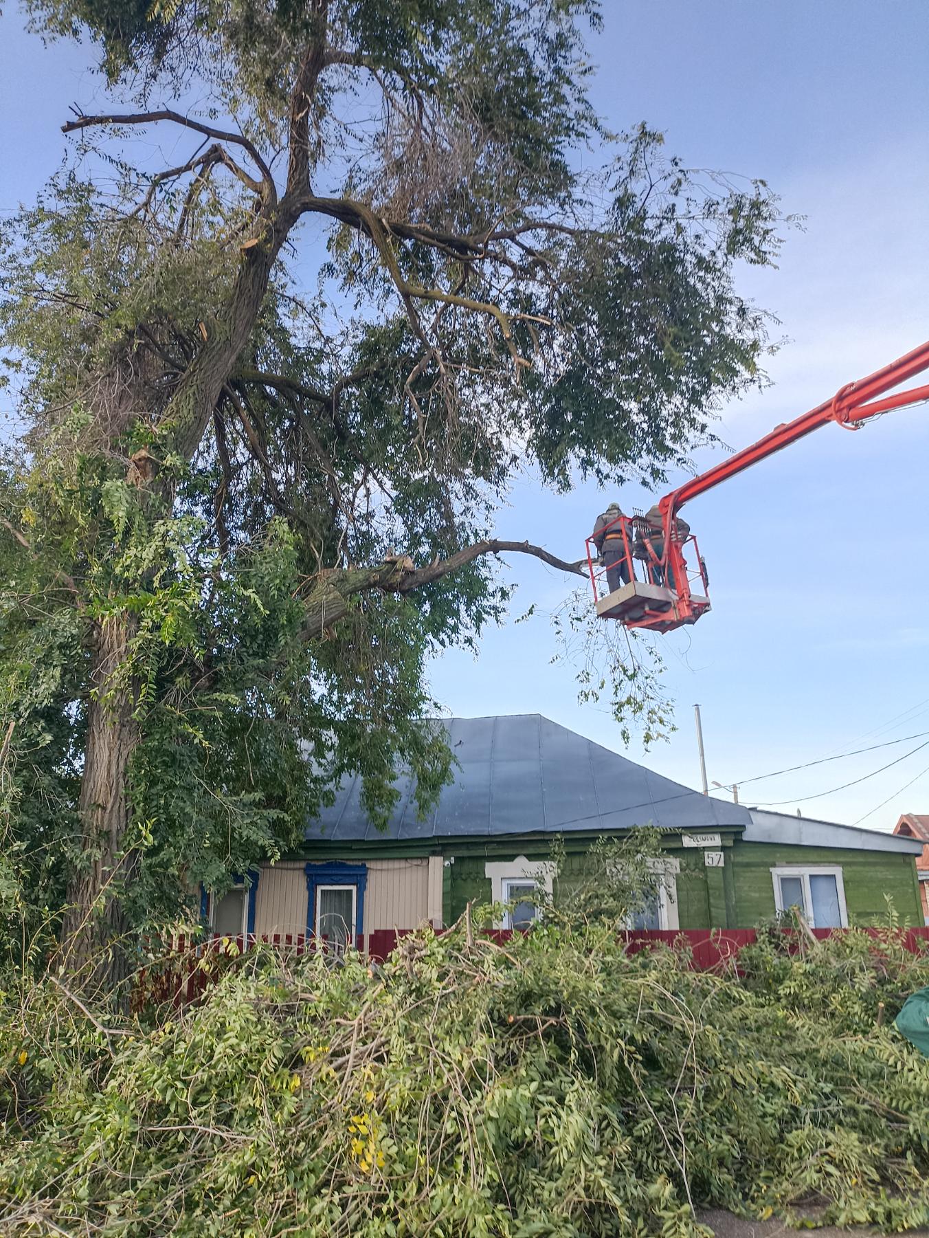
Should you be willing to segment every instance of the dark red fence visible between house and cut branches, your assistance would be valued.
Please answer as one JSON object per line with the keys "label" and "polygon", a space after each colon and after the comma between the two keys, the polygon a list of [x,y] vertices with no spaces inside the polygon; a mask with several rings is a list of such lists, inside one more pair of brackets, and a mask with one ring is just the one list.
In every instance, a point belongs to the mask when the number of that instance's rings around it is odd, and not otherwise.
{"label": "dark red fence visible between house and cut branches", "polygon": [[[396,948],[400,938],[406,937],[412,931],[411,928],[377,928],[360,936],[356,946],[372,962],[383,962]],[[442,932],[442,930],[438,931]],[[814,928],[813,933],[823,941],[834,932],[841,933],[844,931],[842,928]],[[880,928],[865,931],[875,937],[882,933]],[[490,937],[496,942],[505,942],[512,936],[512,932],[508,928],[502,928],[482,932],[481,936]],[[700,971],[734,966],[740,951],[758,940],[755,928],[636,928],[622,936],[630,954],[658,945],[677,948],[687,946],[690,950],[691,966]],[[793,940],[799,948],[800,938],[794,936]],[[275,933],[270,937],[261,937],[260,941],[283,954],[293,954],[294,957],[306,953],[307,950],[318,948],[313,938],[308,942],[303,935]],[[929,927],[903,928],[899,931],[899,942],[914,954],[929,950]],[[224,959],[240,954],[255,945],[256,938],[254,937],[212,938],[199,943],[192,938],[177,937],[163,958],[153,961],[140,971],[136,1005],[150,1000],[173,999],[178,1003],[194,1000],[216,978]]]}

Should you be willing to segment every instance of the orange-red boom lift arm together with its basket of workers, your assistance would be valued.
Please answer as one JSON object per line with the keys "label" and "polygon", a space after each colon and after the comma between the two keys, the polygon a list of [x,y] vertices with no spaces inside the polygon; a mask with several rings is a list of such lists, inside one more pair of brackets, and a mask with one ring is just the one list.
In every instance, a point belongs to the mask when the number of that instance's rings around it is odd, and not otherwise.
{"label": "orange-red boom lift arm together with its basket of workers", "polygon": [[[696,539],[678,525],[678,514],[684,504],[829,422],[836,422],[846,430],[858,430],[871,417],[929,400],[929,385],[886,395],[927,369],[929,340],[867,378],[846,384],[831,400],[778,426],[757,443],[679,485],[658,504],[662,514],[661,531],[642,516],[620,516],[610,526],[619,526],[615,531],[622,534],[630,577],[630,583],[620,589],[604,594],[605,573],[595,569],[593,540],[588,537],[588,567],[597,614],[601,618],[619,619],[627,628],[647,628],[652,631],[672,631],[695,623],[710,609],[709,583]],[[653,548],[656,542],[662,547],[661,555]],[[690,552],[690,562],[685,548]],[[693,588],[695,584],[700,586],[699,593]]]}

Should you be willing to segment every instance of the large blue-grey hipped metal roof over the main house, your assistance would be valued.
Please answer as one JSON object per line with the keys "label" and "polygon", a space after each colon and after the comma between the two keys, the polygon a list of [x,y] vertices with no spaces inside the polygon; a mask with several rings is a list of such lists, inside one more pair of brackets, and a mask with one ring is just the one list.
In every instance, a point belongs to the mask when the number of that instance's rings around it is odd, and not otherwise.
{"label": "large blue-grey hipped metal roof over the main house", "polygon": [[747,826],[748,811],[714,800],[653,774],[644,765],[594,744],[538,713],[452,718],[448,730],[459,768],[454,784],[421,821],[413,782],[395,784],[400,800],[386,832],[361,808],[361,779],[343,784],[330,808],[307,828],[307,838],[330,842],[480,838],[501,834],[570,833]]}

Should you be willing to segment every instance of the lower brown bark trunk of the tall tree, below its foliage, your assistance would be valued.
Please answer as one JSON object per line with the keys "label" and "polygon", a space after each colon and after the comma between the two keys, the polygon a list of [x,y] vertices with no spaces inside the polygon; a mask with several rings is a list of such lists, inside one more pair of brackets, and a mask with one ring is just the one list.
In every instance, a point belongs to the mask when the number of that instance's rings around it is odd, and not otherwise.
{"label": "lower brown bark trunk of the tall tree, below its foliage", "polygon": [[129,974],[129,921],[121,895],[137,853],[125,851],[129,760],[139,742],[137,686],[127,672],[131,620],[105,619],[96,631],[80,781],[80,857],[68,884],[62,962],[85,989],[114,993]]}

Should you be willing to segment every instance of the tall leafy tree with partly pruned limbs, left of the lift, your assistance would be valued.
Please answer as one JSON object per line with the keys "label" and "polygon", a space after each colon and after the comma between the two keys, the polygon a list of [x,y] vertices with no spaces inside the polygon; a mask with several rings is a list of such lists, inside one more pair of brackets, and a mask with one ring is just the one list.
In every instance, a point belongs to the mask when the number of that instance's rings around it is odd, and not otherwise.
{"label": "tall leafy tree with partly pruned limbs, left of the lift", "polygon": [[401,763],[437,794],[428,656],[501,552],[576,558],[495,540],[508,483],[685,458],[757,380],[776,208],[604,129],[596,0],[30,11],[113,105],[4,239],[0,889],[116,978],[346,771],[375,820]]}

